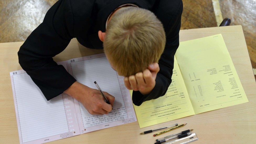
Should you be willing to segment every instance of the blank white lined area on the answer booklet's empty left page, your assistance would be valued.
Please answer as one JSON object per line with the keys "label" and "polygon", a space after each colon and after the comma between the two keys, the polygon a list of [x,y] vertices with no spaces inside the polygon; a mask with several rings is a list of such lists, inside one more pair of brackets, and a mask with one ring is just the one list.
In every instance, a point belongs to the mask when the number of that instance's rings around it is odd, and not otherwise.
{"label": "blank white lined area on the answer booklet's empty left page", "polygon": [[22,142],[69,132],[62,96],[47,101],[27,73],[13,76]]}

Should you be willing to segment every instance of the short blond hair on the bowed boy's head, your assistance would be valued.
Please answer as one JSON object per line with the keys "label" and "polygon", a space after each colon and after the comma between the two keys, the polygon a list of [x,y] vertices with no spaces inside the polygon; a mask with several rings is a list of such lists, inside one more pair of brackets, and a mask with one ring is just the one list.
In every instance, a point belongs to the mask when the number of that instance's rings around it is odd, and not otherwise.
{"label": "short blond hair on the bowed boy's head", "polygon": [[137,7],[119,9],[106,28],[104,52],[121,76],[142,72],[158,62],[166,36],[156,15]]}

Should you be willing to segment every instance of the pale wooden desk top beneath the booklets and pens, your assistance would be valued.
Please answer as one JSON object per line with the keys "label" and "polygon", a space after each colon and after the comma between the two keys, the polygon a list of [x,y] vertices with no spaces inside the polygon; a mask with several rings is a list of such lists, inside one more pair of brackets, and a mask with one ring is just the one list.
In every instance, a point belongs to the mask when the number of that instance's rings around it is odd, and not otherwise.
{"label": "pale wooden desk top beneath the booklets and pens", "polygon": [[[194,129],[194,132],[199,137],[199,140],[194,143],[253,143],[256,134],[256,84],[242,26],[181,30],[180,41],[220,33],[231,55],[249,100],[248,103],[213,110],[142,129],[139,128],[138,122],[133,122],[51,143],[153,143],[156,138],[152,134],[139,135],[139,133],[169,124],[186,122],[188,123],[186,126],[173,130],[173,133]],[[22,44],[23,42],[0,44],[0,139],[3,143],[19,143],[9,72],[22,69],[18,63],[17,56],[19,47]],[[68,47],[61,54],[54,57],[54,59],[55,61],[64,61],[74,57],[102,52],[103,50],[84,48],[76,39],[73,39]],[[162,136],[169,134],[171,133],[163,134]]]}

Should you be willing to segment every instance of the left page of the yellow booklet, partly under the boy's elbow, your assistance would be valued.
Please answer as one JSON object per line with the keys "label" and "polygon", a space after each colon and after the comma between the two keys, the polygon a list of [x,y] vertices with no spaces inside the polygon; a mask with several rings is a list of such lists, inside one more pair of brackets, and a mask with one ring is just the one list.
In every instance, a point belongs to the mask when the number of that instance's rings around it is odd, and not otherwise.
{"label": "left page of the yellow booklet, partly under the boy's elbow", "polygon": [[[132,95],[132,91],[131,95]],[[172,83],[166,94],[157,99],[143,102],[140,106],[134,105],[140,128],[162,122],[194,115],[188,92],[176,59]]]}

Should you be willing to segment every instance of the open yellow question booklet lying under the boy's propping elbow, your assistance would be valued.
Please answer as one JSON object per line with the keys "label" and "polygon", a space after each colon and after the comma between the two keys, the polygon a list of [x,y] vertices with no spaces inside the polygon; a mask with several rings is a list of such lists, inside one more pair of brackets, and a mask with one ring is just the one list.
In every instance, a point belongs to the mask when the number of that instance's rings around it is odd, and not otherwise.
{"label": "open yellow question booklet lying under the boy's propping elbow", "polygon": [[140,128],[248,102],[221,34],[180,42],[166,94],[134,105]]}

